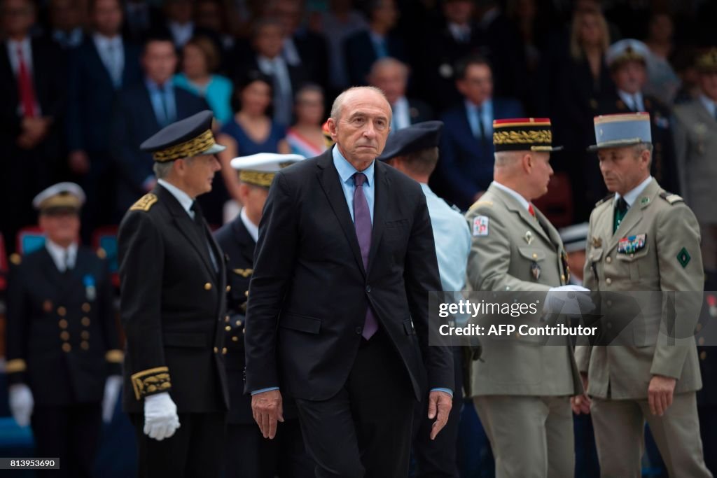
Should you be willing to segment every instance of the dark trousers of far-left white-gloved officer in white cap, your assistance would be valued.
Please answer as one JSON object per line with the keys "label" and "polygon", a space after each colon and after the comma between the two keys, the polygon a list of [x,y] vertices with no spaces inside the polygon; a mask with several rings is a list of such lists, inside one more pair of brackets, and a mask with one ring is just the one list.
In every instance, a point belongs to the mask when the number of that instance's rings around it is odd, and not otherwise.
{"label": "dark trousers of far-left white-gloved officer in white cap", "polygon": [[99,403],[38,405],[32,411],[35,457],[60,458],[59,470],[38,471],[39,477],[91,477],[100,440]]}

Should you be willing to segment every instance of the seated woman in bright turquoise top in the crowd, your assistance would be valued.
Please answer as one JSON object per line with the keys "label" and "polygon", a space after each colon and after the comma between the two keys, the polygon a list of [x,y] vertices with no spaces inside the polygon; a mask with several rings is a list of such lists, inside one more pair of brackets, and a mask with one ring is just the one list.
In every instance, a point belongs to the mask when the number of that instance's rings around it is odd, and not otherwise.
{"label": "seated woman in bright turquoise top in the crowd", "polygon": [[174,85],[206,99],[214,118],[222,125],[232,119],[232,82],[212,72],[219,66],[219,52],[212,40],[194,37],[182,49],[182,72]]}

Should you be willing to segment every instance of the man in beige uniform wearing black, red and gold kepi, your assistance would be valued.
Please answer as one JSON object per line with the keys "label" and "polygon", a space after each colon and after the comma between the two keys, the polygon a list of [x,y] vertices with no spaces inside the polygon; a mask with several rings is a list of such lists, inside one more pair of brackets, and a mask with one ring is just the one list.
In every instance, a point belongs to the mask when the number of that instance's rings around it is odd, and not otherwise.
{"label": "man in beige uniform wearing black, red and gold kepi", "polygon": [[[495,172],[466,217],[473,231],[468,284],[475,291],[584,290],[565,286],[566,254],[558,231],[531,201],[553,170],[550,120],[495,120]],[[561,287],[565,286],[565,287]],[[490,439],[497,478],[574,474],[570,396],[582,393],[569,338],[541,346],[521,338],[484,343],[472,391]]]}

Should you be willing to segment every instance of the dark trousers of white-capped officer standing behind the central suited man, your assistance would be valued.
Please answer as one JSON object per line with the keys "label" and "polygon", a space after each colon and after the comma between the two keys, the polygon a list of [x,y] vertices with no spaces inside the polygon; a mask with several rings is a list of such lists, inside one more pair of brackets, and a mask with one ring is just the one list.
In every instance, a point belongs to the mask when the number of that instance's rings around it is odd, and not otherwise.
{"label": "dark trousers of white-capped officer standing behind the central suited man", "polygon": [[273,440],[257,424],[229,424],[225,478],[313,478],[298,419],[279,424]]}

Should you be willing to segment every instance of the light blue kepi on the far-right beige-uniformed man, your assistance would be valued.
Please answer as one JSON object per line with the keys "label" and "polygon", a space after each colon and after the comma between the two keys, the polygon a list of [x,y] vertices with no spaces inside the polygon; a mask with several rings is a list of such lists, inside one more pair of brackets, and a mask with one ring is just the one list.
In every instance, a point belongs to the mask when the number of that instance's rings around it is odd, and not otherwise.
{"label": "light blue kepi on the far-right beige-uniformed man", "polygon": [[650,113],[600,115],[594,118],[594,123],[597,144],[587,148],[589,151],[652,143]]}

